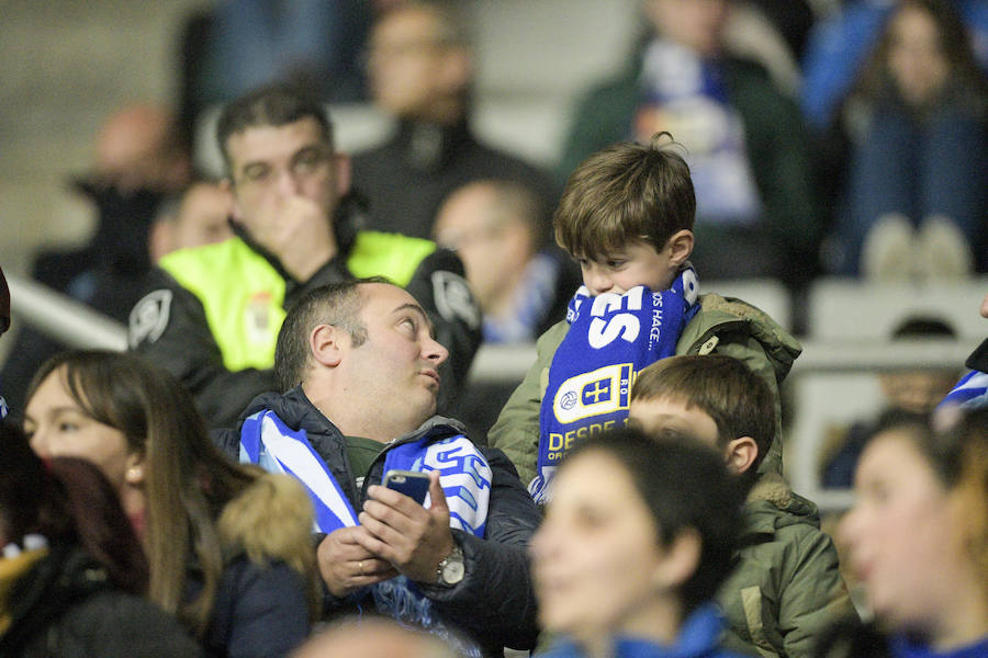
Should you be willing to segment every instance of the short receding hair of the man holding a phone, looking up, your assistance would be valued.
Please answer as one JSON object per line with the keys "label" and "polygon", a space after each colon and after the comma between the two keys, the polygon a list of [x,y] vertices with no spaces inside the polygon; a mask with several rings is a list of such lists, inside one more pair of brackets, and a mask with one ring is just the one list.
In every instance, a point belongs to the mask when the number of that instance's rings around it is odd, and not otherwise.
{"label": "short receding hair of the man holding a phone, looking up", "polygon": [[318,325],[332,325],[350,334],[355,348],[367,341],[367,327],[360,322],[362,283],[392,282],[383,276],[330,283],[306,293],[292,306],[274,345],[274,381],[284,393],[305,379],[310,367],[308,334]]}

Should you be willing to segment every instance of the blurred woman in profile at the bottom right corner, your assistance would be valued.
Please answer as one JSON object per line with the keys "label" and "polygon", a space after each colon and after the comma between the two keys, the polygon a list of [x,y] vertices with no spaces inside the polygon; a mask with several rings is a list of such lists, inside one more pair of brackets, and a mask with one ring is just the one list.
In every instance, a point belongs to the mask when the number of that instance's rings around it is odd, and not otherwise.
{"label": "blurred woman in profile at the bottom right corner", "polygon": [[878,432],[855,491],[840,533],[889,653],[988,656],[988,409]]}

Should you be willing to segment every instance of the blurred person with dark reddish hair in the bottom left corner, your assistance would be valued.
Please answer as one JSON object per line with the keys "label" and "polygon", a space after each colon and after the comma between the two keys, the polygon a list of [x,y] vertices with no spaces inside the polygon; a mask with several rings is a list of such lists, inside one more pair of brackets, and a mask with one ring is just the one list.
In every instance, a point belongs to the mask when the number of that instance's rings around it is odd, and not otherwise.
{"label": "blurred person with dark reddish hair in the bottom left corner", "polygon": [[0,426],[0,656],[170,658],[202,649],[144,599],[148,567],[90,463],[47,465]]}

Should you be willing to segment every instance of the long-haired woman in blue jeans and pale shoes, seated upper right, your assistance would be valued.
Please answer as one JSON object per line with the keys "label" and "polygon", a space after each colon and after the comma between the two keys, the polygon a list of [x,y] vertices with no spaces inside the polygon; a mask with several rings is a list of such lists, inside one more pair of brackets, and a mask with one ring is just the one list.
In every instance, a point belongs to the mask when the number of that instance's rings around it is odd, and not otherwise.
{"label": "long-haired woman in blue jeans and pale shoes, seated upper right", "polygon": [[844,102],[840,240],[877,277],[984,266],[988,78],[951,0],[900,0]]}

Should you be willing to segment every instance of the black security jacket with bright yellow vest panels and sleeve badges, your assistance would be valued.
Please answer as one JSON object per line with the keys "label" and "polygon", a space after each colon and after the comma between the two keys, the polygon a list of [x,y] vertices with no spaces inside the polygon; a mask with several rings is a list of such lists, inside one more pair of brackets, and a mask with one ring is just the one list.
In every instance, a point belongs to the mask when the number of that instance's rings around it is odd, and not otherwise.
{"label": "black security jacket with bright yellow vest panels and sleeve badges", "polygon": [[440,366],[440,405],[462,386],[480,345],[481,315],[456,254],[428,240],[360,231],[299,282],[240,234],[162,258],[151,292],[130,318],[131,349],[176,375],[212,427],[232,426],[255,396],[277,388],[274,343],[292,304],[355,277],[385,276],[416,298],[450,353]]}

